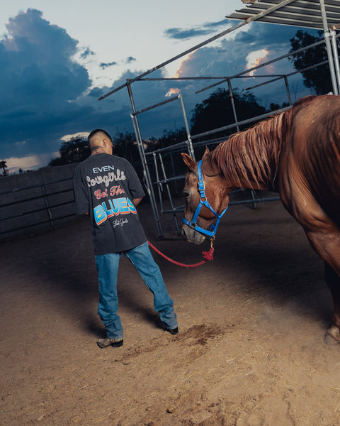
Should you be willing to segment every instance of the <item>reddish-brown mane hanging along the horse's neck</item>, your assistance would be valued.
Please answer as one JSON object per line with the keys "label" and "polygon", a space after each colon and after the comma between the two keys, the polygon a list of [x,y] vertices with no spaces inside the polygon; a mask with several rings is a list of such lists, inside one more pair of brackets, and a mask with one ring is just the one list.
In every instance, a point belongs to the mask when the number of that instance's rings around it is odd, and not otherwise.
{"label": "reddish-brown mane hanging along the horse's neck", "polygon": [[278,160],[296,109],[314,99],[308,96],[299,99],[293,108],[234,133],[210,153],[212,163],[222,175],[237,187],[276,189]]}

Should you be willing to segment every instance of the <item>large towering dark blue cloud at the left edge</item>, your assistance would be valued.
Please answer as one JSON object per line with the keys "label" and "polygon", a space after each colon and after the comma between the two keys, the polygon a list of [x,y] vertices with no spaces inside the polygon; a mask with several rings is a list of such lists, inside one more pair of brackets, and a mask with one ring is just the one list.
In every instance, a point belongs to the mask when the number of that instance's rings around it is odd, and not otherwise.
{"label": "large towering dark blue cloud at the left edge", "polygon": [[75,102],[91,84],[72,59],[78,42],[35,9],[10,18],[6,28],[0,40],[1,157],[56,151],[52,135],[69,116],[89,113]]}

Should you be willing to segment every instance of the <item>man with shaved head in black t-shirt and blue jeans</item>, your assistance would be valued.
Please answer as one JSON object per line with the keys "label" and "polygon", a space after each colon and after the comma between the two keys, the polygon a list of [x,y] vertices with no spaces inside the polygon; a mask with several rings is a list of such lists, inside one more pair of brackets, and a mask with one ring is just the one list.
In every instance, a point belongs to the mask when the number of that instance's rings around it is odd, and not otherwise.
{"label": "man with shaved head in black t-shirt and blue jeans", "polygon": [[118,312],[117,275],[122,253],[140,273],[154,294],[154,309],[165,329],[179,332],[174,301],[169,297],[159,267],[149,251],[136,207],[145,195],[132,165],[113,153],[106,131],[89,134],[91,155],[74,171],[74,200],[77,214],[89,214],[98,270],[98,315],[106,326],[100,348],[123,345],[123,326]]}

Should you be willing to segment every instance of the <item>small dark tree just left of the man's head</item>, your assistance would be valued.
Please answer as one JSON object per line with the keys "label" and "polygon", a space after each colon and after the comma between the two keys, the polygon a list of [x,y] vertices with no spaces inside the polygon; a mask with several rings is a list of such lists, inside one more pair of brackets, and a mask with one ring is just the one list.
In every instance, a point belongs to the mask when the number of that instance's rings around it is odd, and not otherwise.
{"label": "small dark tree just left of the man's head", "polygon": [[59,151],[60,157],[53,158],[48,165],[79,163],[91,155],[89,143],[81,136],[76,136],[67,142],[63,142]]}

